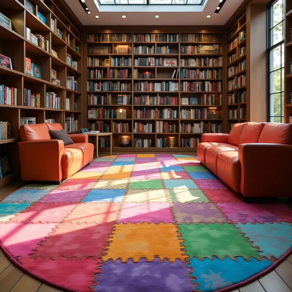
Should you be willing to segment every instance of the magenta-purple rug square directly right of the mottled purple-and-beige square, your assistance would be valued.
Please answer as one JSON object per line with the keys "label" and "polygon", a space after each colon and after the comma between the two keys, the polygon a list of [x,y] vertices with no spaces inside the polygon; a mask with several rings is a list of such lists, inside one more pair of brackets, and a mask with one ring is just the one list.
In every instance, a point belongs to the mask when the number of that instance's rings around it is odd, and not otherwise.
{"label": "magenta-purple rug square directly right of the mottled purple-and-beige square", "polygon": [[258,204],[217,203],[217,206],[235,223],[281,223],[278,216]]}

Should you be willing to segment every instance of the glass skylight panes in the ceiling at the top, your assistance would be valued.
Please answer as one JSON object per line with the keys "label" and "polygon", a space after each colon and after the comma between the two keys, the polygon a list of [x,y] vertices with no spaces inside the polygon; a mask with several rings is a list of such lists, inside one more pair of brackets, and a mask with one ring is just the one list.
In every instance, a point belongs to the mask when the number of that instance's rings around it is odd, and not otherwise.
{"label": "glass skylight panes in the ceiling at the top", "polygon": [[204,0],[97,0],[99,5],[203,5]]}

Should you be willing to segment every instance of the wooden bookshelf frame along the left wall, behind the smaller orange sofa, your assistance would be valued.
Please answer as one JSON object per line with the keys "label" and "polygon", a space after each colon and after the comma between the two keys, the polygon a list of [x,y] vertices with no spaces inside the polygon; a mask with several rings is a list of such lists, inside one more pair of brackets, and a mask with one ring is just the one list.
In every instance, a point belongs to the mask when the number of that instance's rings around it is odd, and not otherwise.
{"label": "wooden bookshelf frame along the left wall, behind the smaller orange sofa", "polygon": [[[9,0],[0,3],[0,12],[10,18],[12,24],[11,29],[0,25],[0,54],[11,58],[13,67],[10,69],[0,66],[0,85],[17,88],[15,105],[0,104],[0,120],[11,124],[11,138],[0,140],[0,153],[10,156],[14,171],[11,175],[0,179],[0,188],[19,177],[17,142],[20,141],[21,117],[35,117],[36,124],[44,123],[46,119],[54,119],[63,127],[65,127],[65,118],[73,117],[78,121],[78,129],[69,133],[79,132],[82,123],[81,33],[53,0],[30,0],[33,13],[29,12],[25,1]],[[46,24],[37,17],[38,12],[44,16]],[[62,32],[62,37],[55,33],[51,19],[55,21],[55,27]],[[45,41],[48,41],[48,51],[26,38],[26,27],[32,34],[40,34]],[[51,54],[51,49],[58,54],[58,58]],[[77,62],[77,69],[67,64],[67,54]],[[42,79],[25,73],[25,58],[31,59],[32,63],[40,66]],[[60,85],[51,82],[52,69],[57,72]],[[74,76],[74,80],[77,80],[76,91],[67,88],[67,76]],[[40,107],[25,106],[25,89],[31,90],[32,94],[39,94]],[[46,107],[47,92],[57,94],[60,98],[60,109]],[[70,101],[69,110],[65,107],[66,98]],[[74,110],[74,102],[77,104],[76,110]]]}

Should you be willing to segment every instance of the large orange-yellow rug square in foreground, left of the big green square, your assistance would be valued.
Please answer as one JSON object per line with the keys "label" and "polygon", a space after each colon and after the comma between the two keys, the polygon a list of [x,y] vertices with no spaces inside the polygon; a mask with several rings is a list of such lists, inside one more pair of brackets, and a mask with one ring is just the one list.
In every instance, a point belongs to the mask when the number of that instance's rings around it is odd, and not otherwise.
{"label": "large orange-yellow rug square in foreground, left of the big green square", "polygon": [[126,263],[129,258],[133,262],[139,262],[140,258],[146,261],[160,260],[184,261],[188,256],[181,249],[185,246],[183,240],[178,237],[178,228],[173,224],[159,223],[120,223],[114,226],[114,231],[105,248],[104,261],[121,259]]}

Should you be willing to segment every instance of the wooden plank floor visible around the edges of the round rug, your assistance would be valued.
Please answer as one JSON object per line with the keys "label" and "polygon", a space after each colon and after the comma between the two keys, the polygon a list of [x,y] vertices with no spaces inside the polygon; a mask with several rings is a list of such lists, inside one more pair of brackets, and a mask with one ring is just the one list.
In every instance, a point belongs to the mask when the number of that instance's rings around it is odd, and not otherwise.
{"label": "wooden plank floor visible around the edges of the round rug", "polygon": [[[195,155],[194,152],[180,152],[176,154]],[[113,153],[113,155],[115,154]],[[100,154],[100,156],[103,155]],[[1,188],[0,201],[24,185],[25,183],[19,181]],[[63,290],[44,284],[20,270],[10,262],[0,249],[0,292],[61,291]],[[292,254],[267,275],[231,292],[292,292]]]}

